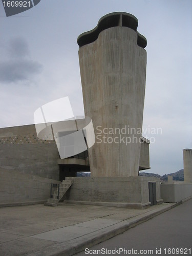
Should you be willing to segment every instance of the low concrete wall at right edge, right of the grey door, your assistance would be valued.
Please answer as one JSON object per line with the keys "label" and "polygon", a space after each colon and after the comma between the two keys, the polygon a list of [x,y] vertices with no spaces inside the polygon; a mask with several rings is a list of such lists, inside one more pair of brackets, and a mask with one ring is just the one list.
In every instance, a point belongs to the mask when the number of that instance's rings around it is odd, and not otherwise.
{"label": "low concrete wall at right edge, right of the grey door", "polygon": [[163,202],[167,203],[177,203],[183,199],[192,197],[192,184],[174,183],[161,184],[161,198]]}

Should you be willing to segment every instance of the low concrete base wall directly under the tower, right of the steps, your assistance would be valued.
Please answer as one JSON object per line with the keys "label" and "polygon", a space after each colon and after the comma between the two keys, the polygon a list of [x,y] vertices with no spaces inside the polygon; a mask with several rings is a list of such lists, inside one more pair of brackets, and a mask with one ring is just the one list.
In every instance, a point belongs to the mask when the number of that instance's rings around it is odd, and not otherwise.
{"label": "low concrete base wall directly under the tower, right of the steps", "polygon": [[[157,201],[160,201],[160,180],[154,177],[67,177],[73,180],[66,201],[111,202],[149,205],[148,182],[156,182]],[[139,208],[139,207],[138,207]]]}

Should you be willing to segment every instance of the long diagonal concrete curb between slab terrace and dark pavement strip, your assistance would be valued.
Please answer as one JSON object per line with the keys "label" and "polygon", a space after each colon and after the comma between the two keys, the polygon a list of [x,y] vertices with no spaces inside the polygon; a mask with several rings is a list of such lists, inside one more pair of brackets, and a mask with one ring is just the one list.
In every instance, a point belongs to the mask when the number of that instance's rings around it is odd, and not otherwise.
{"label": "long diagonal concrete curb between slab terrace and dark pavement strip", "polygon": [[[189,198],[190,199],[190,198]],[[135,227],[145,221],[148,221],[163,212],[170,210],[183,202],[180,201],[175,204],[164,205],[161,209],[151,210],[149,212],[145,212],[144,214],[138,215],[136,217],[123,220],[119,223],[111,225],[106,228],[99,229],[97,231],[91,232],[84,236],[78,237],[71,241],[57,243],[53,246],[49,246],[45,249],[27,254],[30,256],[72,256],[80,251],[83,251],[85,248],[91,248],[92,246],[106,241],[117,234],[120,234],[132,227]]]}

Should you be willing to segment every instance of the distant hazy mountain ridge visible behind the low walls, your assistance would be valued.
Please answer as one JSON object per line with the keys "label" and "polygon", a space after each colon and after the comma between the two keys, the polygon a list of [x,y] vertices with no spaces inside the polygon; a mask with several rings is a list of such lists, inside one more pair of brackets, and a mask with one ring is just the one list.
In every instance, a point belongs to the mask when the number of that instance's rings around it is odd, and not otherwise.
{"label": "distant hazy mountain ridge visible behind the low walls", "polygon": [[[159,174],[149,174],[149,173],[139,173],[139,176],[145,176],[145,177],[156,177],[160,178],[161,181],[167,181],[167,175],[173,176],[173,180],[178,180],[178,181],[184,181],[184,170],[178,170],[178,172],[173,173],[173,174],[165,174],[163,176],[160,176]],[[77,177],[90,177],[90,173],[83,173],[83,172],[78,172]]]}

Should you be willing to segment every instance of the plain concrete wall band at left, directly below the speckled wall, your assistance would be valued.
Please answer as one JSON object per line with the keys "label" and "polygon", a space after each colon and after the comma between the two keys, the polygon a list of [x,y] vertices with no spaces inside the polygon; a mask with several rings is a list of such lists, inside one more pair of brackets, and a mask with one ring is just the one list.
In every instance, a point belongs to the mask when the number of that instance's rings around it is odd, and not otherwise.
{"label": "plain concrete wall band at left, directly below the speckled wall", "polygon": [[56,144],[1,144],[0,167],[59,180]]}

